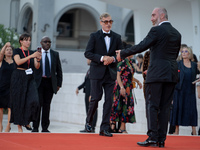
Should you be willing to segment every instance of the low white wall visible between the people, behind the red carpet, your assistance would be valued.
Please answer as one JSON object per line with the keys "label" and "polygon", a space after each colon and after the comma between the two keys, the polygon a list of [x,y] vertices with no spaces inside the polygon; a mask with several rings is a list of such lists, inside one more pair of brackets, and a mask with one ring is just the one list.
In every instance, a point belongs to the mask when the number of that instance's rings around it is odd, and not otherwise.
{"label": "low white wall visible between the people, behind the red carpet", "polygon": [[[84,93],[75,94],[76,88],[83,82],[85,74],[64,73],[63,86],[57,95],[54,95],[51,103],[50,119],[54,121],[81,124],[84,127],[86,119]],[[135,74],[135,78],[143,82],[142,75]],[[134,89],[137,104],[135,104],[136,123],[127,124],[129,133],[146,133],[147,123],[145,115],[145,100],[142,89]],[[104,100],[99,102],[97,129],[99,129],[102,120],[102,107]],[[198,105],[198,121],[200,123],[200,99],[197,100]],[[180,127],[181,135],[191,135],[191,127]],[[98,133],[99,131],[96,130]]]}

